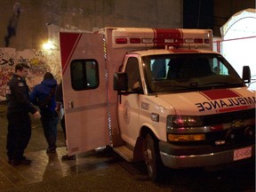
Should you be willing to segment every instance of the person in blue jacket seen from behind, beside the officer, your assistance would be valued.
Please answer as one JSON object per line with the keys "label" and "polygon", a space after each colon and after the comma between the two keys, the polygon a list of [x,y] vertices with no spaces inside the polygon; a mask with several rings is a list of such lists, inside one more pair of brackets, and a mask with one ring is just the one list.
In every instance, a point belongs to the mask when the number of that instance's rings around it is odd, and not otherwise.
{"label": "person in blue jacket seen from behind, beside the officer", "polygon": [[40,108],[41,123],[44,129],[44,137],[48,143],[46,153],[56,153],[57,127],[59,115],[55,111],[55,89],[57,81],[52,73],[44,74],[44,80],[37,84],[30,93],[30,101]]}

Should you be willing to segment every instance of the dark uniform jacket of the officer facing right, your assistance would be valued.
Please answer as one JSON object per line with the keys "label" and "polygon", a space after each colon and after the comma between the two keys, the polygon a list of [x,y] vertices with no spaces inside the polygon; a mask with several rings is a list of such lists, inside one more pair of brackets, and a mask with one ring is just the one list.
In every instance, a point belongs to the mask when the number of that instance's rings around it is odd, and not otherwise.
{"label": "dark uniform jacket of the officer facing right", "polygon": [[18,75],[13,75],[6,89],[7,112],[36,113],[36,108],[30,103],[29,92],[26,80]]}

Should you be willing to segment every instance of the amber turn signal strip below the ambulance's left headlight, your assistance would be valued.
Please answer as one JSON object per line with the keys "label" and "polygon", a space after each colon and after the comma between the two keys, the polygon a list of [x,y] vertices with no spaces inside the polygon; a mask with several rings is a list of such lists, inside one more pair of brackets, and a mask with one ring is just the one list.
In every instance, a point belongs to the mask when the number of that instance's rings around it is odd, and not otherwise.
{"label": "amber turn signal strip below the ambulance's left headlight", "polygon": [[205,140],[204,134],[168,134],[169,141],[199,141]]}

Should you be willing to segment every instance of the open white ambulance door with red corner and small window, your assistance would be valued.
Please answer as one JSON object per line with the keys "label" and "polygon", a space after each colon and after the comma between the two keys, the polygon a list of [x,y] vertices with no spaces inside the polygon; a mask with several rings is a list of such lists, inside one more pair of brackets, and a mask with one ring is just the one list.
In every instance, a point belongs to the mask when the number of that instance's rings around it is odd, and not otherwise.
{"label": "open white ambulance door with red corner and small window", "polygon": [[60,33],[68,155],[109,145],[103,35]]}

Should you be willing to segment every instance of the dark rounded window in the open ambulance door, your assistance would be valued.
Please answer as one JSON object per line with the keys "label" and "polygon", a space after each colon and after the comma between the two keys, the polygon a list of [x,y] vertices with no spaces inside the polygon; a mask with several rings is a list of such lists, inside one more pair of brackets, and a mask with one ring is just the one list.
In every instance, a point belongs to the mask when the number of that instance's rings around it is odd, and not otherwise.
{"label": "dark rounded window in the open ambulance door", "polygon": [[70,71],[74,90],[96,89],[99,86],[99,69],[96,60],[73,60]]}

